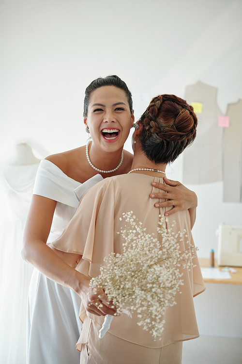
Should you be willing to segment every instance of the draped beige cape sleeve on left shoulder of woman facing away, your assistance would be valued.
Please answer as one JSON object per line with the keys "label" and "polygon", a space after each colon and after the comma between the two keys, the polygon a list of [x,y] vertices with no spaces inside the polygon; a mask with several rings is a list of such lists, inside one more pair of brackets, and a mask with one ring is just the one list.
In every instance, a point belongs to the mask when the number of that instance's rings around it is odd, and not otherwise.
{"label": "draped beige cape sleeve on left shoulder of woman facing away", "polygon": [[58,250],[82,255],[76,269],[86,276],[99,275],[103,258],[113,251],[114,203],[112,179],[97,183],[83,196],[76,214],[52,243]]}

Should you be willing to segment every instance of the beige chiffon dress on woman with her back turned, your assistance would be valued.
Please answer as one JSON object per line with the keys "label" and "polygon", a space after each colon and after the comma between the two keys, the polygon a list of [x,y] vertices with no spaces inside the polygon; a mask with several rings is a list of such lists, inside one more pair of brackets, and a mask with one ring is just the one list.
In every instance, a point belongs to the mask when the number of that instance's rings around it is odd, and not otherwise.
{"label": "beige chiffon dress on woman with her back turned", "polygon": [[[123,213],[133,211],[138,221],[146,227],[147,233],[156,233],[159,214],[165,214],[165,208],[155,208],[158,200],[150,198],[151,193],[159,190],[151,182],[164,183],[163,178],[140,173],[132,173],[106,178],[93,186],[81,199],[76,214],[52,245],[62,251],[78,253],[82,259],[76,269],[89,277],[100,274],[104,257],[111,252],[121,253],[121,231],[125,222],[120,220]],[[162,200],[160,200],[162,201]],[[168,227],[176,221],[173,232],[187,232],[191,244],[194,244],[188,210],[168,216]],[[187,248],[187,243],[180,241],[180,250]],[[114,317],[106,335],[99,339],[104,316],[96,316],[80,308],[82,333],[76,344],[81,351],[81,363],[96,364],[158,364],[181,363],[182,341],[199,336],[193,297],[205,290],[197,257],[193,259],[194,268],[183,269],[181,294],[175,297],[176,305],[166,309],[165,330],[161,340],[153,340],[149,331],[137,325],[136,314],[132,318],[126,314]]]}

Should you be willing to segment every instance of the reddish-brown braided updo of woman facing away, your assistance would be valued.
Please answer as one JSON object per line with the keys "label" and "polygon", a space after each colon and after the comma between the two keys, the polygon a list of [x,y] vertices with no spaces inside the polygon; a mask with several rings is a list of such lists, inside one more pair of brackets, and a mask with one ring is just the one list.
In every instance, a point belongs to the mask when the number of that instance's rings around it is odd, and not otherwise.
{"label": "reddish-brown braided updo of woman facing away", "polygon": [[175,95],[159,95],[140,117],[141,148],[155,164],[171,163],[196,137],[193,107]]}

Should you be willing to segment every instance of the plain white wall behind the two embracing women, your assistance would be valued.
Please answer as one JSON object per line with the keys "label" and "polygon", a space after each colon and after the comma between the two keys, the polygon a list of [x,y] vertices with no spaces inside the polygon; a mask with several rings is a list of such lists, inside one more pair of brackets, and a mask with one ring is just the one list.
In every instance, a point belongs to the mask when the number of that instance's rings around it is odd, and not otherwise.
{"label": "plain white wall behind the two embracing women", "polygon": [[[0,1],[0,144],[21,138],[48,154],[86,142],[83,97],[98,76],[118,74],[138,99],[183,97],[187,84],[218,87],[218,105],[242,98],[242,1]],[[136,119],[143,111],[135,106]],[[143,108],[146,105],[143,105]],[[130,141],[126,148],[130,150]],[[170,178],[182,182],[182,157]],[[232,176],[231,176],[232,178]],[[242,223],[222,182],[192,185],[199,256],[217,248],[219,223]]]}

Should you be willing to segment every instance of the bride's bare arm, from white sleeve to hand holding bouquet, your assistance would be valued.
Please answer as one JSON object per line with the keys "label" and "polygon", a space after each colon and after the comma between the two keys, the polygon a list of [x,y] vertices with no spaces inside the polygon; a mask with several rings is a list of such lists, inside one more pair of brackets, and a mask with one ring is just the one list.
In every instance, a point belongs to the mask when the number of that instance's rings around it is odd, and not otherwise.
{"label": "bride's bare arm, from white sleeve to hand holding bouquet", "polygon": [[[24,260],[34,265],[52,281],[73,289],[82,299],[86,311],[99,316],[113,315],[115,310],[107,306],[105,293],[103,291],[89,292],[90,278],[71,267],[81,258],[81,255],[62,252],[46,245],[55,207],[56,201],[52,199],[38,195],[32,196],[24,231],[22,254]],[[98,309],[95,303],[100,301],[103,306]],[[90,305],[90,302],[94,303]]]}

